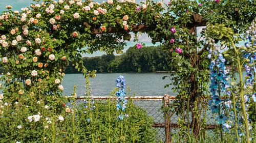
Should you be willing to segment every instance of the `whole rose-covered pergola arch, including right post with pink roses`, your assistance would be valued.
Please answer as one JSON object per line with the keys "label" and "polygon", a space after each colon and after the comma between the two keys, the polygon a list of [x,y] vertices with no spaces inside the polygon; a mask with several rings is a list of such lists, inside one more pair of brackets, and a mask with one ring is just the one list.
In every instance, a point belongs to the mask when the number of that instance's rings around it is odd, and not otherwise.
{"label": "whole rose-covered pergola arch, including right post with pink roses", "polygon": [[[131,38],[130,32],[135,33],[134,42],[139,42],[138,32],[146,33],[152,43],[160,42],[163,49],[172,54],[170,65],[178,75],[172,78],[177,85],[175,90],[179,91],[177,103],[178,106],[186,103],[188,132],[192,128],[198,135],[200,121],[194,118],[193,110],[198,107],[198,100],[206,96],[203,91],[207,90],[209,82],[209,61],[205,55],[209,45],[197,41],[196,27],[206,25],[204,19],[210,23],[226,20],[225,16],[221,17],[226,11],[215,9],[222,7],[220,1],[210,2],[210,8],[203,1],[203,6],[190,1],[184,6],[181,5],[183,1],[168,5],[152,1],[139,5],[134,0],[108,0],[102,4],[80,0],[34,2],[21,11],[12,11],[12,7],[7,6],[8,10],[0,16],[0,63],[5,68],[1,80],[4,97],[8,97],[4,98],[5,102],[14,104],[30,95],[58,107],[56,110],[61,112],[67,101],[61,95],[61,81],[68,61],[72,61],[86,78],[94,77],[96,71],[87,71],[83,66],[83,53],[122,53],[125,40]],[[244,2],[243,6],[246,5]],[[238,30],[241,30],[241,19],[252,19],[249,10],[244,14],[249,16],[242,17],[238,8],[225,7],[233,9],[229,17],[236,18],[237,23],[232,21],[229,25]],[[221,16],[217,18],[216,15]],[[34,91],[39,92],[35,94]],[[166,122],[169,122],[167,114]],[[169,127],[166,130],[168,132]],[[166,139],[170,140],[170,135]]]}

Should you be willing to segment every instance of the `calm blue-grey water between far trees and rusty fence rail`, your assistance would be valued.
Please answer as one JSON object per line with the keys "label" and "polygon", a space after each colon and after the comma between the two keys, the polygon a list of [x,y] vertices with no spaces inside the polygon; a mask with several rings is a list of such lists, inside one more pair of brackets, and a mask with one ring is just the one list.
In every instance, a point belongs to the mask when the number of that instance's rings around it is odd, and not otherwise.
{"label": "calm blue-grey water between far trees and rusty fence rail", "polygon": [[[97,73],[96,77],[90,78],[93,96],[108,96],[111,90],[116,88],[116,78],[122,75],[126,80],[126,87],[130,87],[131,94],[135,96],[175,96],[172,88],[165,88],[169,84],[168,78],[162,79],[168,73]],[[71,96],[74,85],[77,85],[77,96],[84,96],[85,79],[82,74],[66,74],[61,83],[64,87],[63,95]]]}

